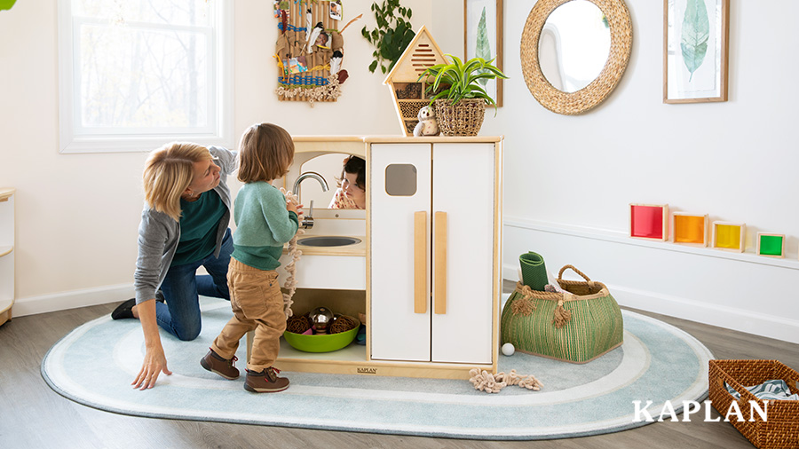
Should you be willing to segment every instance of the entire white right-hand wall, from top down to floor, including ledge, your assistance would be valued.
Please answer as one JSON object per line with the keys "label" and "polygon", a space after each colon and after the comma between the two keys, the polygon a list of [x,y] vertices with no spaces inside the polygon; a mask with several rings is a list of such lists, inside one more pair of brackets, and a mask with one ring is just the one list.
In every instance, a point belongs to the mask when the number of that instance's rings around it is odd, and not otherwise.
{"label": "entire white right-hand wall, from top down to floor, including ledge", "polygon": [[[505,135],[505,277],[517,279],[518,256],[533,250],[550,271],[574,264],[605,282],[622,304],[799,341],[799,62],[789,56],[799,3],[732,1],[729,101],[665,105],[663,4],[628,0],[629,67],[580,116],[551,113],[527,90],[518,47],[533,4],[504,3],[511,80],[482,133]],[[629,239],[630,202],[744,222],[749,254]],[[787,234],[788,259],[755,256],[757,231]]]}

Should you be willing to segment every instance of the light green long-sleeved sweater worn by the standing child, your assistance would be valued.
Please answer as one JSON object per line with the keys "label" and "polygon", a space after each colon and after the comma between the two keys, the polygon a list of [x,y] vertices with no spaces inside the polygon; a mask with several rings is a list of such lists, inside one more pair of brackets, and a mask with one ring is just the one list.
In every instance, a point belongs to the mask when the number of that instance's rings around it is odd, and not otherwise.
{"label": "light green long-sleeved sweater worn by the standing child", "polygon": [[280,190],[263,181],[241,186],[233,220],[234,259],[259,270],[281,266],[283,245],[297,233],[299,218],[286,210],[286,197]]}

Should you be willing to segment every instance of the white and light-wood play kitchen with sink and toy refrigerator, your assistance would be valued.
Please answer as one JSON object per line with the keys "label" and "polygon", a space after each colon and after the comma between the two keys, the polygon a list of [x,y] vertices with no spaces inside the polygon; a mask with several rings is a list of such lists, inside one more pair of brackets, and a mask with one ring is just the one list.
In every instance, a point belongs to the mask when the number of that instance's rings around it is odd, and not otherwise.
{"label": "white and light-wood play kitchen with sink and toy refrigerator", "polygon": [[[473,368],[496,373],[502,138],[296,137],[295,146],[283,187],[298,191],[305,218],[297,249],[289,242],[281,258],[293,316],[275,366],[451,379],[468,379]],[[336,188],[339,173],[304,170],[326,154],[366,161],[365,210],[304,201],[304,188]],[[297,317],[313,328],[292,329]],[[364,344],[353,342],[359,330]]]}

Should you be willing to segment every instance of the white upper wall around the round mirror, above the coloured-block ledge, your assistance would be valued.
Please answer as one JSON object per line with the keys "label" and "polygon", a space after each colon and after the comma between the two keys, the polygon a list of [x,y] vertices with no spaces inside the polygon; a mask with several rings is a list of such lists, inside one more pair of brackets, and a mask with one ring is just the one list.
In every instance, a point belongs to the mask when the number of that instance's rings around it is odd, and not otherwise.
{"label": "white upper wall around the round mirror, above the coloured-block ledge", "polygon": [[531,3],[505,1],[509,101],[482,131],[506,137],[506,215],[625,231],[630,202],[668,203],[792,234],[796,258],[799,209],[786,195],[799,167],[799,61],[789,56],[799,3],[776,0],[765,12],[732,1],[729,101],[666,105],[663,4],[628,0],[629,67],[605,103],[580,116],[551,113],[526,88],[518,46]]}

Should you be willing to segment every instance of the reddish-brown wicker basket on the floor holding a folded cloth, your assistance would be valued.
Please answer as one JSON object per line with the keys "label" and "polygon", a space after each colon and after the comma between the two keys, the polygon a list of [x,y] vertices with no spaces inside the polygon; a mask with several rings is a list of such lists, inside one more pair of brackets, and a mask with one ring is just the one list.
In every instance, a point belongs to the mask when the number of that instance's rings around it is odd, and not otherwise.
{"label": "reddish-brown wicker basket on the floor holding a folded cloth", "polygon": [[[709,365],[709,397],[713,408],[725,416],[732,402],[738,402],[745,421],[738,421],[738,417],[731,414],[730,423],[735,429],[759,449],[799,448],[799,401],[770,400],[767,421],[763,421],[757,413],[749,416],[749,401],[756,401],[761,410],[766,410],[763,400],[744,388],[782,379],[792,394],[799,393],[796,388],[799,373],[779,360],[710,360]],[[740,393],[740,399],[730,394],[724,382]]]}

